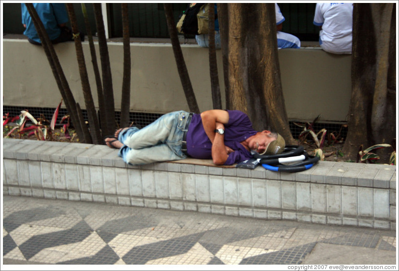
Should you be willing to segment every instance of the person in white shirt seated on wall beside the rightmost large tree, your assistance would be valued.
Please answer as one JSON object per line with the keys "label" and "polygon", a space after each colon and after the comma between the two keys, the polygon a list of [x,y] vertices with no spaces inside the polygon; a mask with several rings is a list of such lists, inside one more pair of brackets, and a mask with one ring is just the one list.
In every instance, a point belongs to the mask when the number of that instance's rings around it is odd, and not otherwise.
{"label": "person in white shirt seated on wall beside the rightmost large tree", "polygon": [[352,54],[353,3],[316,3],[313,24],[320,27],[320,47],[332,54]]}

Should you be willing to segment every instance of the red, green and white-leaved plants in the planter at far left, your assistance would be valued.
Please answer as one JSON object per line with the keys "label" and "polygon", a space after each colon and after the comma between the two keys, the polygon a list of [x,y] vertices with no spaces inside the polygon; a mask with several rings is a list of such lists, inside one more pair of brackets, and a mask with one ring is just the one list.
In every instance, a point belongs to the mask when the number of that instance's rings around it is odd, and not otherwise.
{"label": "red, green and white-leaved plants in the planter at far left", "polygon": [[[8,132],[5,135],[5,137],[9,137],[14,131],[18,130],[18,134],[20,135],[20,137],[24,134],[27,134],[28,136],[35,135],[38,140],[46,140],[46,139],[54,140],[54,131],[61,104],[62,104],[62,99],[58,107],[54,111],[51,121],[48,121],[44,116],[35,119],[28,112],[28,110],[22,110],[19,116],[14,116],[14,117],[9,117],[9,113],[7,113],[6,115],[3,116],[3,126],[13,123],[14,121],[16,123],[16,126],[14,126],[13,128],[11,128],[10,125],[6,126]],[[27,124],[28,119],[31,121],[32,123],[31,125]],[[58,126],[62,126],[62,132],[64,133],[65,137],[68,139],[71,138],[68,131],[69,125],[70,125],[69,115],[63,116],[60,123],[58,124]]]}

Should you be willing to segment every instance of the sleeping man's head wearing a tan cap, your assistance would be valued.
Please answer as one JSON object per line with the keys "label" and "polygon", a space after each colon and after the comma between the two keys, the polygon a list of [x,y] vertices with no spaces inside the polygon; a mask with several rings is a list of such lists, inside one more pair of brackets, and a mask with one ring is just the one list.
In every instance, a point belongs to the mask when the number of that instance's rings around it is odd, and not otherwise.
{"label": "sleeping man's head wearing a tan cap", "polygon": [[283,136],[277,133],[264,130],[248,138],[248,145],[251,150],[256,151],[260,155],[273,155],[284,151],[285,140]]}

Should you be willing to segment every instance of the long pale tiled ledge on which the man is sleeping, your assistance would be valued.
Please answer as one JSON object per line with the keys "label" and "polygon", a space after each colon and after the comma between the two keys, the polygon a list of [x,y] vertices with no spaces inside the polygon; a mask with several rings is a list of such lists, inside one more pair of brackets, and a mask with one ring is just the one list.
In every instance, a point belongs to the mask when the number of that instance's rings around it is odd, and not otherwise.
{"label": "long pale tiled ledge on which the man is sleeping", "polygon": [[3,193],[396,229],[396,166],[321,161],[284,173],[127,165],[105,145],[3,139]]}

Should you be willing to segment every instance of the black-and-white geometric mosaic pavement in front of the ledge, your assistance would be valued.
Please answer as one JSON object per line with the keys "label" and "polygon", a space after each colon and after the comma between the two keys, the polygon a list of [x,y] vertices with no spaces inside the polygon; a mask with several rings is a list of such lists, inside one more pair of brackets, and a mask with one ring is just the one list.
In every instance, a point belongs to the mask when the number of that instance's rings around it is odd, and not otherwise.
{"label": "black-and-white geometric mosaic pavement in front of the ledge", "polygon": [[317,243],[396,250],[396,232],[3,197],[3,259],[43,264],[289,265]]}

